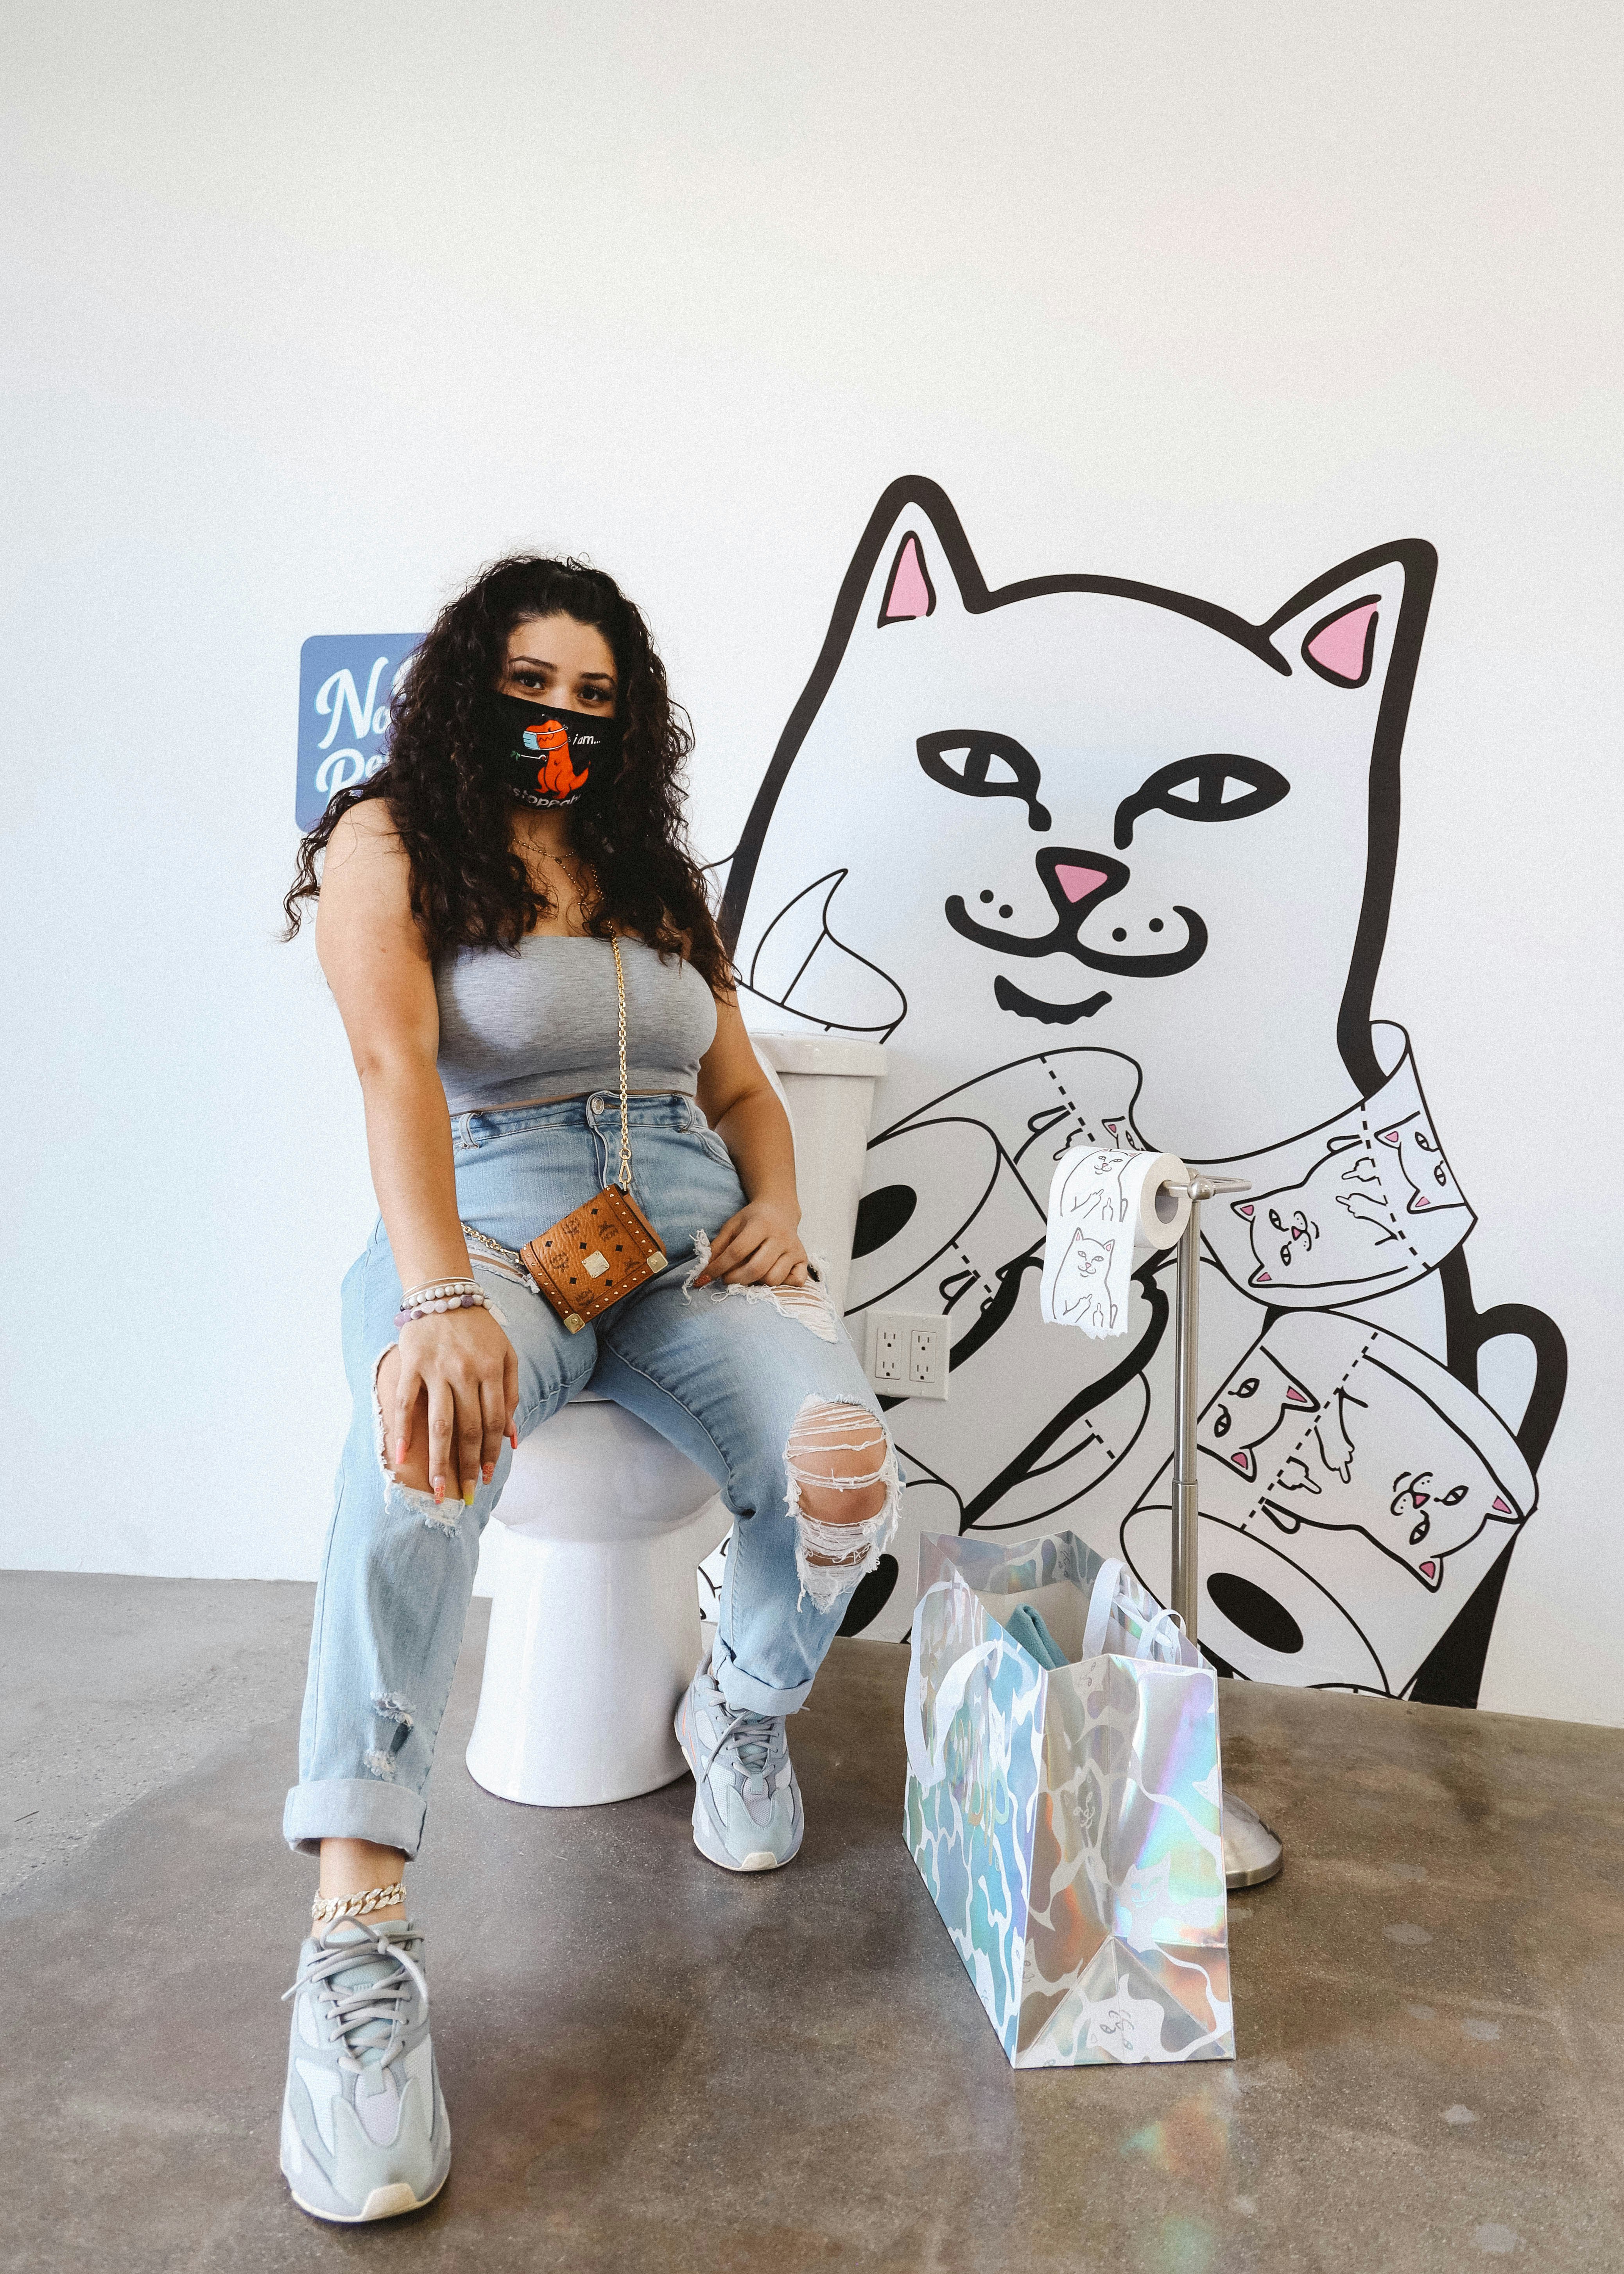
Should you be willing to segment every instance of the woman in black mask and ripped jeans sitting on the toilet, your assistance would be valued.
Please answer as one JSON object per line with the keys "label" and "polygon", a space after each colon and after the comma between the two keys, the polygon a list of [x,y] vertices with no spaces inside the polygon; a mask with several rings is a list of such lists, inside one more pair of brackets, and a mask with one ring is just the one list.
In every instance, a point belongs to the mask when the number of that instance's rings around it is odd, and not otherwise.
{"label": "woman in black mask and ripped jeans sitting on the toilet", "polygon": [[[712,1660],[678,1710],[694,1844],[730,1872],[801,1846],[785,1715],[896,1521],[896,1458],[807,1269],[789,1121],[687,848],[689,748],[607,575],[498,562],[412,657],[387,769],[332,800],[287,903],[296,930],[318,896],[380,1205],[343,1280],[355,1417],[284,1815],[321,1897],[282,2169],[328,2219],[412,2210],[450,2160],[403,1876],[519,1439],[591,1383],[735,1514]],[[614,939],[632,1198],[671,1269],[569,1333],[516,1251],[619,1169]]]}

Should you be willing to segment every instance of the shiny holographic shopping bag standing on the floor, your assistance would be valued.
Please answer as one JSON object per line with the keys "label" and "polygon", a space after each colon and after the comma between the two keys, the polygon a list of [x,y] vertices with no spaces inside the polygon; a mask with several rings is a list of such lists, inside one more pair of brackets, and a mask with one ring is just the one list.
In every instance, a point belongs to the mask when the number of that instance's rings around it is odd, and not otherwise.
{"label": "shiny holographic shopping bag standing on the floor", "polygon": [[1010,2065],[1233,2060],[1217,1680],[1133,1574],[926,1535],[905,1724],[908,1846]]}

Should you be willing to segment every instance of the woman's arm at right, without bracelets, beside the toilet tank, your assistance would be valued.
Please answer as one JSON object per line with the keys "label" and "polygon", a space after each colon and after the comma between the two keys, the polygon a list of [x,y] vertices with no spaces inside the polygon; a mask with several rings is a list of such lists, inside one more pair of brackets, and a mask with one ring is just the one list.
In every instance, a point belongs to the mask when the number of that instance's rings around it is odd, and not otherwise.
{"label": "woman's arm at right, without bracelets, beside the toilet tank", "polygon": [[716,1003],[716,1039],[698,1067],[698,1103],[732,1153],[746,1205],[716,1233],[710,1262],[694,1285],[721,1278],[735,1287],[803,1287],[807,1251],[798,1233],[789,1114],[762,1073],[735,1001]]}

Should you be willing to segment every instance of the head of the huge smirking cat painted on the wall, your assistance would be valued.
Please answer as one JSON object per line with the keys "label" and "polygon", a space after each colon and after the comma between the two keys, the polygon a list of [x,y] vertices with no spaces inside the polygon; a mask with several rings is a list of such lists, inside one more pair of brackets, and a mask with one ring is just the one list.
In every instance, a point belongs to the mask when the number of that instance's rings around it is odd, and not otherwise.
{"label": "head of the huge smirking cat painted on the wall", "polygon": [[732,862],[748,987],[933,1078],[1130,1051],[1144,1135],[1203,1157],[1340,1110],[1431,568],[1365,555],[1262,628],[1110,578],[989,594],[896,484]]}

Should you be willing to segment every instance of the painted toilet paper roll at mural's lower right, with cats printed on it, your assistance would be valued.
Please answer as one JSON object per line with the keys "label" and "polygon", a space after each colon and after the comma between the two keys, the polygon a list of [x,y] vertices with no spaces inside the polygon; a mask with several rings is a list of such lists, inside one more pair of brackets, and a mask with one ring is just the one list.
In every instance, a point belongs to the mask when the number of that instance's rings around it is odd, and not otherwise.
{"label": "painted toilet paper roll at mural's lower right, with cats printed on it", "polygon": [[[1535,1503],[1483,1399],[1331,1312],[1276,1319],[1196,1446],[1201,1640],[1253,1680],[1401,1694]],[[1158,1594],[1169,1535],[1162,1471],[1121,1528]]]}

